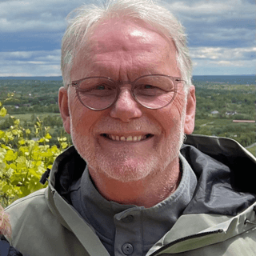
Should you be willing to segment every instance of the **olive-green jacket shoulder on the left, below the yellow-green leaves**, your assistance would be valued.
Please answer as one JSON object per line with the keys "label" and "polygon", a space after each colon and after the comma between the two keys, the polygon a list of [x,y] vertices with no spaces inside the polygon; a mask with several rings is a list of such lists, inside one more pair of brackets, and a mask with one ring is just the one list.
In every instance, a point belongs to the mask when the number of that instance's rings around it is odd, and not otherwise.
{"label": "olive-green jacket shoulder on the left, below the yellow-green leaves", "polygon": [[6,208],[10,214],[10,245],[27,255],[89,255],[75,234],[52,213],[46,197],[49,186]]}

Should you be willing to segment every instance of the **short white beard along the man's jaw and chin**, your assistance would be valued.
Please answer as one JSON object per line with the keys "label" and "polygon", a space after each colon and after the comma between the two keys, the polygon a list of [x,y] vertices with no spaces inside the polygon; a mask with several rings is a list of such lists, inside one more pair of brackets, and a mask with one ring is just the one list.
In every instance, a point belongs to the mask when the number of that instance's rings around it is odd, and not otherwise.
{"label": "short white beard along the man's jaw and chin", "polygon": [[[186,102],[185,102],[186,103]],[[186,104],[184,104],[186,106]],[[94,138],[84,137],[78,134],[73,126],[72,117],[70,116],[71,123],[71,138],[74,143],[78,154],[86,161],[89,170],[94,170],[94,173],[105,174],[109,178],[118,180],[119,182],[132,182],[146,178],[147,175],[156,175],[159,172],[166,170],[174,159],[178,157],[179,150],[184,142],[184,122],[186,117],[186,107],[182,110],[182,120],[178,132],[174,133],[174,137],[168,138],[169,142],[167,148],[160,148],[156,151],[152,150],[152,154],[145,155],[143,152],[136,152],[136,158],[131,158],[129,154],[129,143],[123,150],[117,151],[113,154],[101,155],[101,148],[96,146],[91,148],[90,140]],[[154,151],[155,150],[155,151]],[[160,151],[160,152],[159,152]],[[110,161],[110,159],[116,161]]]}

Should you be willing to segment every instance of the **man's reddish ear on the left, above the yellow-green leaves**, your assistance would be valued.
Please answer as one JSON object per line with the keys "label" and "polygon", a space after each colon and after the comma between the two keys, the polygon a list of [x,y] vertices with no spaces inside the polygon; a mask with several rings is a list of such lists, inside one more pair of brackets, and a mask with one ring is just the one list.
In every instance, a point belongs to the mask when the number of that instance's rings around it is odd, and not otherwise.
{"label": "man's reddish ear on the left, above the yellow-green leaves", "polygon": [[58,108],[62,115],[64,129],[70,134],[70,110],[67,90],[64,87],[58,90]]}

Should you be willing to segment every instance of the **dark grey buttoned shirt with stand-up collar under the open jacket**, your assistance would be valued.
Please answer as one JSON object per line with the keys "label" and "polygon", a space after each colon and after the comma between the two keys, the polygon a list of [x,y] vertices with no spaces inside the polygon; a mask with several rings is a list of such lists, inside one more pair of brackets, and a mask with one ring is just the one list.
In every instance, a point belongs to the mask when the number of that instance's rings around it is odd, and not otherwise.
{"label": "dark grey buttoned shirt with stand-up collar under the open jacket", "polygon": [[70,187],[74,209],[92,226],[110,255],[146,255],[169,231],[193,197],[197,178],[179,154],[182,178],[177,190],[150,208],[122,205],[99,194],[88,167]]}

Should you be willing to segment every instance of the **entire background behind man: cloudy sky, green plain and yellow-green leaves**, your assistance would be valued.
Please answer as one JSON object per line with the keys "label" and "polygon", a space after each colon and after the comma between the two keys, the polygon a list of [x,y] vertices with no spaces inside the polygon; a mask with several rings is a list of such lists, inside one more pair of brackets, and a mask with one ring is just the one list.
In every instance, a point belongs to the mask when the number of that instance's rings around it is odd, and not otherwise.
{"label": "entire background behind man: cloudy sky, green plain and yellow-green leaves", "polygon": [[[71,145],[58,111],[62,36],[70,11],[98,2],[0,0],[2,206],[46,187],[38,182],[42,174]],[[232,138],[256,156],[255,1],[161,2],[186,28],[197,97],[194,134]]]}

